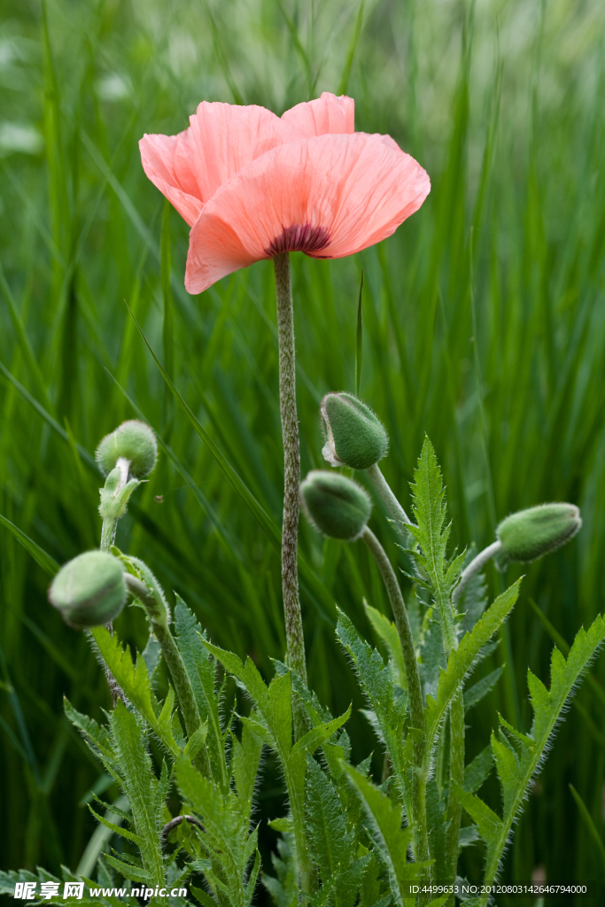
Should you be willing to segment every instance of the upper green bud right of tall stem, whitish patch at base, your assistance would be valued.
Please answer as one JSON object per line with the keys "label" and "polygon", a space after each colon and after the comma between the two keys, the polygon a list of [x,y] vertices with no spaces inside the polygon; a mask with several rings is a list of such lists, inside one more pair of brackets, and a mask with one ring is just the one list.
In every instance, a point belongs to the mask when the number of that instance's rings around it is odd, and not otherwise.
{"label": "upper green bud right of tall stem, whitish patch at base", "polygon": [[333,466],[369,469],[386,455],[388,434],[372,410],[352,394],[327,394],[321,401],[327,442],[321,453]]}

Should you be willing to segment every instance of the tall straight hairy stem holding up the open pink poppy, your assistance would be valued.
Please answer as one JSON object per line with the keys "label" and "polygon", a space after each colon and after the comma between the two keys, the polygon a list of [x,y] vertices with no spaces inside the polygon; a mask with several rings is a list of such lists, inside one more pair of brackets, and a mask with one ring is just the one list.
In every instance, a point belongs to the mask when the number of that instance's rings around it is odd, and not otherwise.
{"label": "tall straight hairy stem holding up the open pink poppy", "polygon": [[[305,639],[298,598],[298,489],[300,450],[296,399],[294,348],[294,307],[288,252],[273,258],[278,297],[279,411],[284,439],[284,517],[281,537],[281,589],[284,598],[288,666],[307,684]],[[304,713],[298,701],[292,703],[297,740],[305,733]]]}

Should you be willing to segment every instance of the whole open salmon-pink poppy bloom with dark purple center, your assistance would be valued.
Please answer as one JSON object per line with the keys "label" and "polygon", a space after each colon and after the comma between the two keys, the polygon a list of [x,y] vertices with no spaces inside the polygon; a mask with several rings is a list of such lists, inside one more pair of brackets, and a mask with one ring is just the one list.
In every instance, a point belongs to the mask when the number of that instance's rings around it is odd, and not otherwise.
{"label": "whole open salmon-pink poppy bloom with dark purple center", "polygon": [[353,255],[420,208],[427,173],[354,121],[353,99],[325,92],[281,117],[204,101],[184,132],[143,136],[145,173],[191,228],[190,293],[280,252]]}

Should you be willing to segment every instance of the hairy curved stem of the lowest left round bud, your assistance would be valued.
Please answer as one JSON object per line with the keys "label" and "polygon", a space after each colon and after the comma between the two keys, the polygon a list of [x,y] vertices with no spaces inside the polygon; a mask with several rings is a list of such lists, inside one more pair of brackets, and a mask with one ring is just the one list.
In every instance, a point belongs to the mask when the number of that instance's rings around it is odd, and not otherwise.
{"label": "hairy curved stem of the lowest left round bud", "polygon": [[[193,695],[189,674],[181,658],[181,652],[177,649],[177,644],[171,634],[169,627],[170,615],[167,613],[166,605],[160,596],[155,595],[144,582],[132,576],[131,573],[124,573],[124,580],[132,595],[141,602],[147,611],[153,635],[160,643],[161,654],[171,672],[174,690],[179,699],[182,717],[185,721],[187,736],[191,737],[201,727],[200,710]],[[201,747],[200,753],[194,760],[194,765],[200,769],[202,775],[208,778],[212,776],[208,751],[205,746]]]}

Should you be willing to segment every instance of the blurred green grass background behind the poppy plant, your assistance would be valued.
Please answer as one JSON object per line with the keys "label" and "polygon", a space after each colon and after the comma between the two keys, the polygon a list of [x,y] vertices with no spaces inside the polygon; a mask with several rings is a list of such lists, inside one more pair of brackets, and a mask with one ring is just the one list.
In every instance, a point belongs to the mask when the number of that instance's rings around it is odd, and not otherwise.
{"label": "blurred green grass background behind the poppy plant", "polygon": [[[460,547],[493,541],[496,522],[515,509],[581,506],[580,536],[525,571],[510,644],[504,639],[493,657],[507,663],[504,680],[469,712],[468,756],[488,742],[497,710],[528,730],[525,672],[529,665],[548,680],[549,627],[570,642],[603,609],[605,5],[2,0],[0,9],[5,519],[59,562],[98,545],[90,453],[102,434],[140,414],[161,436],[161,461],[117,543],[181,593],[215,642],[249,652],[270,675],[269,659],[285,648],[278,549],[167,394],[124,300],[277,525],[272,268],[259,263],[189,297],[188,229],[172,212],[167,302],[163,200],[143,174],[137,142],[143,132],[185,128],[202,99],[281,113],[321,91],[346,92],[356,99],[356,128],[392,134],[433,189],[374,249],[334,262],[293,256],[303,474],[323,463],[321,396],[355,390],[363,267],[361,395],[391,435],[384,472],[404,505],[427,433]],[[405,566],[378,506],[372,526]],[[305,524],[301,557],[310,682],[336,712],[351,699],[358,709],[364,703],[334,639],[335,601],[374,640],[363,599],[388,612],[379,577],[360,543],[322,543]],[[108,693],[86,640],[48,605],[47,575],[5,525],[0,571],[0,861],[75,869],[94,831],[86,797],[106,781],[63,717],[62,697],[101,717]],[[497,593],[503,580],[493,568],[488,579]],[[117,629],[144,645],[132,610]],[[605,659],[593,672],[605,682]],[[536,867],[551,880],[605,877],[597,840],[605,708],[594,690],[583,685],[559,730],[507,853],[506,879],[527,880]],[[379,745],[357,710],[349,732],[354,756],[375,751],[379,772]],[[272,768],[260,818],[283,811]],[[490,784],[486,796],[498,808]],[[104,794],[117,795],[115,787]],[[261,834],[266,855],[274,835],[264,825]],[[470,878],[482,865],[480,847],[464,852]]]}

